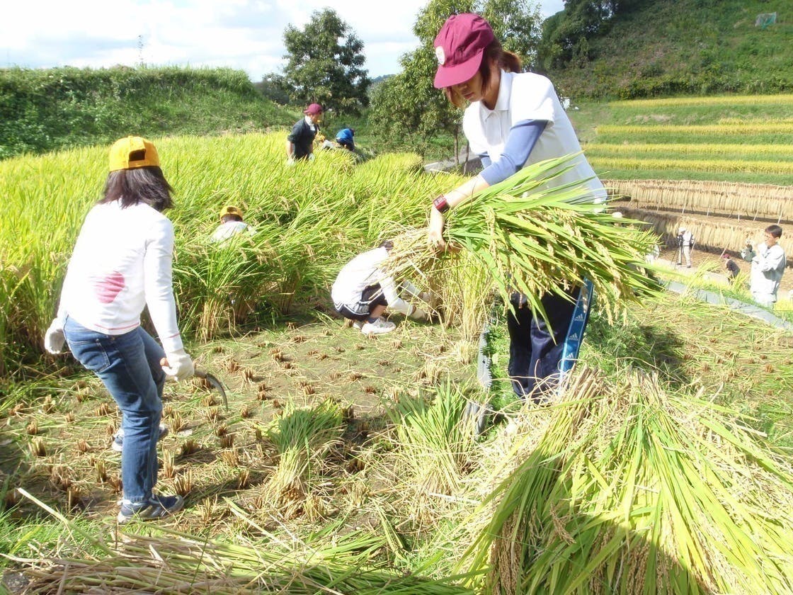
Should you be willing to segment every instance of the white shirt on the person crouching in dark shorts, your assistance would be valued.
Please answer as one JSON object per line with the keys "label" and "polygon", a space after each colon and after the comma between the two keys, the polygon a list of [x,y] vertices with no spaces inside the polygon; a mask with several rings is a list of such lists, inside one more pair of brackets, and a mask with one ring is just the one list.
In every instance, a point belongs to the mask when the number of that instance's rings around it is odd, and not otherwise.
{"label": "white shirt on the person crouching in dark shorts", "polygon": [[344,305],[358,313],[363,290],[380,283],[389,307],[406,316],[410,315],[413,306],[399,297],[393,278],[380,269],[381,263],[388,258],[388,255],[389,251],[385,248],[374,248],[359,254],[345,264],[331,287],[331,298],[335,307]]}

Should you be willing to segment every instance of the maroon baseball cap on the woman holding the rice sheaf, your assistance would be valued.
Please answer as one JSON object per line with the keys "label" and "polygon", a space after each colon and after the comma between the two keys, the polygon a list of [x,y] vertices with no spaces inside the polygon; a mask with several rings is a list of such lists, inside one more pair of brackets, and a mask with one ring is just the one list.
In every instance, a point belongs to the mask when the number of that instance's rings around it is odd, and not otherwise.
{"label": "maroon baseball cap on the woman holding the rice sheaf", "polygon": [[485,48],[496,39],[490,23],[478,14],[453,14],[435,37],[435,88],[459,85],[477,74]]}

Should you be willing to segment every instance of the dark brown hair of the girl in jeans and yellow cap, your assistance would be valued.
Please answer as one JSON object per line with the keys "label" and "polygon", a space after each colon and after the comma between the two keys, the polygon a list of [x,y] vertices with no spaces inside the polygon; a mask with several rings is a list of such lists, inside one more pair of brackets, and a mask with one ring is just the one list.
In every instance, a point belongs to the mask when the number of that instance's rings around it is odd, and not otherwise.
{"label": "dark brown hair of the girl in jeans and yellow cap", "polygon": [[[134,160],[132,155],[130,160]],[[144,202],[162,212],[174,205],[170,197],[173,191],[159,166],[135,167],[111,171],[105,182],[105,196],[99,203],[121,201],[121,208],[125,209]]]}

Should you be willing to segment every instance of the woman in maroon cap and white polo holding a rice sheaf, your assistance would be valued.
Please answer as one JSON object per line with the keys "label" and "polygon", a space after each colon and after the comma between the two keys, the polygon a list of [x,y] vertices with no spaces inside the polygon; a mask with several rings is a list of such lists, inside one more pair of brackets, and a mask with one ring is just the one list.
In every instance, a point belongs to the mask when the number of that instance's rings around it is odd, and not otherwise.
{"label": "woman in maroon cap and white polo holding a rice sheaf", "polygon": [[[433,202],[429,240],[443,249],[443,213],[447,210],[531,163],[577,153],[581,148],[550,80],[521,72],[519,57],[504,51],[484,18],[470,13],[452,15],[434,45],[439,63],[435,87],[443,89],[454,106],[469,104],[463,131],[484,166],[479,175]],[[584,183],[591,189],[593,201],[605,200],[603,184],[584,156],[572,163],[573,167],[551,183]],[[550,327],[542,318],[534,319],[525,297],[512,297],[515,315],[508,317],[508,371],[519,397],[538,399],[557,384],[565,340],[573,348],[573,357],[577,354],[583,328],[575,333],[575,341],[568,331],[584,292],[576,287],[568,293],[569,300],[554,294],[542,296]]]}

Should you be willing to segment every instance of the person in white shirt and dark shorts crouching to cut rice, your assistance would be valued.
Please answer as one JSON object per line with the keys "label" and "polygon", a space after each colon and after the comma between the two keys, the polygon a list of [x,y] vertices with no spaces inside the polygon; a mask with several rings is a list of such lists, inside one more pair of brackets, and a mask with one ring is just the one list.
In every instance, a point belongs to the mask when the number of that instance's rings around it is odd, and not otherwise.
{"label": "person in white shirt and dark shorts crouching to cut rice", "polygon": [[397,290],[428,301],[427,294],[419,291],[411,282],[397,283],[381,271],[380,266],[388,258],[393,243],[385,241],[374,250],[356,256],[344,265],[331,288],[331,298],[336,312],[354,321],[364,335],[391,332],[397,325],[385,321],[381,316],[390,307],[416,321],[426,321],[427,312],[400,298]]}

